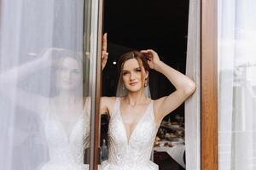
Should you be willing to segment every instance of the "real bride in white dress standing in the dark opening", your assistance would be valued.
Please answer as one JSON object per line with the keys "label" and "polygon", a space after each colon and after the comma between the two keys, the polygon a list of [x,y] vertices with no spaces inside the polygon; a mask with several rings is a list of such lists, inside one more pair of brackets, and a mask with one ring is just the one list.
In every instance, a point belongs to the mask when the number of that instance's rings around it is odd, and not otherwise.
{"label": "real bride in white dress standing in the dark opening", "polygon": [[[102,97],[101,113],[110,120],[108,160],[102,162],[101,170],[156,170],[158,166],[149,160],[160,122],[193,94],[195,82],[160,61],[152,49],[123,54],[118,68],[118,97]],[[149,69],[165,75],[176,91],[150,99]]]}

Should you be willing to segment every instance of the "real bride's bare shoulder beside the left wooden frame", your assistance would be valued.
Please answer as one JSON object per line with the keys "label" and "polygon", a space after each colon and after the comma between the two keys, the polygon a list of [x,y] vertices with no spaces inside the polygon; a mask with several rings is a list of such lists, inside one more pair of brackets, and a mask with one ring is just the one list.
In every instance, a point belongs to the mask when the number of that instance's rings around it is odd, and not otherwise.
{"label": "real bride's bare shoulder beside the left wooden frame", "polygon": [[116,101],[116,97],[102,97],[101,101],[101,113],[102,114],[109,114],[113,111],[113,105]]}

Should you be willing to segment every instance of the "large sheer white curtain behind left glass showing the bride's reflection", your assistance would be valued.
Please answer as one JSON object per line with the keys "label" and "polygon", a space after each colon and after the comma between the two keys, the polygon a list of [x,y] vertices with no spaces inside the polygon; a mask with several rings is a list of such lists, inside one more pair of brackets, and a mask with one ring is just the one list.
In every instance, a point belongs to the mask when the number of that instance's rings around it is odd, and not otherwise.
{"label": "large sheer white curtain behind left glass showing the bride's reflection", "polygon": [[[83,10],[83,0],[0,1],[0,169],[82,162],[73,147],[82,149],[77,132],[86,100]],[[45,167],[49,161],[55,167]]]}

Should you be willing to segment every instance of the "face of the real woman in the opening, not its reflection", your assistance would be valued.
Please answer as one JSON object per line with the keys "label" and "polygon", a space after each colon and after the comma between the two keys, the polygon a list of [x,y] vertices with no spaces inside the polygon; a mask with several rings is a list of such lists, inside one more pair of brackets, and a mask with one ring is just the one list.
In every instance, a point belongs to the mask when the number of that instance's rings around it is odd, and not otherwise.
{"label": "face of the real woman in the opening, not its reflection", "polygon": [[145,70],[139,65],[137,59],[126,60],[121,74],[128,91],[137,92],[144,87]]}

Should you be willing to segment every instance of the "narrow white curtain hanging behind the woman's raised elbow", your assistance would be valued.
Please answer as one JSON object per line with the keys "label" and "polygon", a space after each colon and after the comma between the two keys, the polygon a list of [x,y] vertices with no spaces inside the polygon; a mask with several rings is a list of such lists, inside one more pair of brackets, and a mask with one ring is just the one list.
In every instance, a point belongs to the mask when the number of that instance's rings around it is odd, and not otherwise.
{"label": "narrow white curtain hanging behind the woman's raised elbow", "polygon": [[189,0],[189,32],[186,75],[196,91],[185,103],[186,169],[201,168],[201,1]]}

